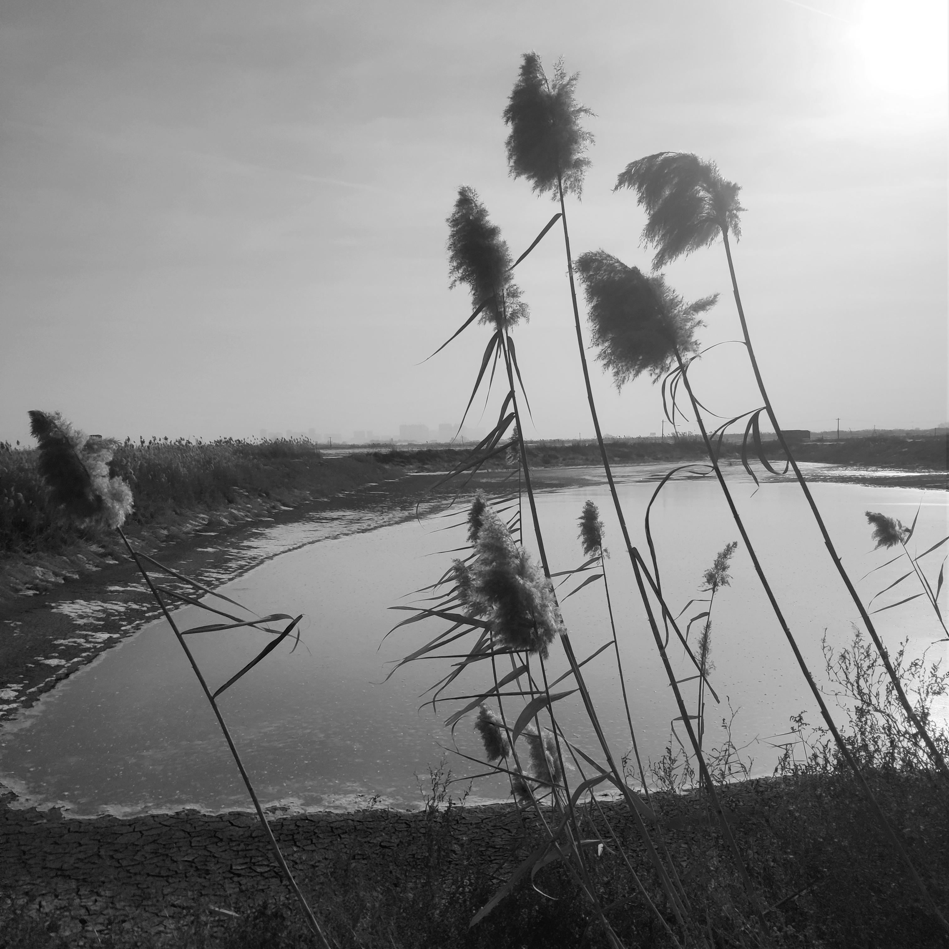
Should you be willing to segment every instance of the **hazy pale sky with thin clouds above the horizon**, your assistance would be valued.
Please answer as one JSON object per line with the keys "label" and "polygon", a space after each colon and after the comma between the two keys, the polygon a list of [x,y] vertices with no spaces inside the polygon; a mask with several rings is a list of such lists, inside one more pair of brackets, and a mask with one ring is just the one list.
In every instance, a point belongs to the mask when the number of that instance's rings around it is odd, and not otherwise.
{"label": "hazy pale sky with thin clouds above the horizon", "polygon": [[[596,113],[568,198],[574,254],[648,268],[617,175],[659,151],[713,159],[742,187],[735,268],[782,425],[939,425],[946,10],[4,0],[0,439],[27,442],[33,408],[119,438],[459,422],[485,327],[422,362],[471,311],[448,288],[457,189],[478,191],[515,255],[554,213],[505,156],[530,49],[549,71],[563,56]],[[721,293],[703,344],[740,335],[720,243],[665,272],[687,299]],[[517,280],[525,435],[591,437],[562,231]],[[588,357],[605,432],[660,430],[659,388],[617,392]],[[737,344],[690,375],[718,415],[760,404]],[[490,427],[498,399],[470,422]]]}

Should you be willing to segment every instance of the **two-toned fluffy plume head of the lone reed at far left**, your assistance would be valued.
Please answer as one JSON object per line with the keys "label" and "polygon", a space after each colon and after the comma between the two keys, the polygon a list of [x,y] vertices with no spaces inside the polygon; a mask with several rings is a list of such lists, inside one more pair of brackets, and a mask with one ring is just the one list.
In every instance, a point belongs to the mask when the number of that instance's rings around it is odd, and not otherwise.
{"label": "two-toned fluffy plume head of the lone reed at far left", "polygon": [[39,445],[38,469],[54,504],[84,522],[118,528],[132,511],[132,490],[109,476],[112,445],[105,438],[86,438],[59,412],[29,413],[29,431]]}

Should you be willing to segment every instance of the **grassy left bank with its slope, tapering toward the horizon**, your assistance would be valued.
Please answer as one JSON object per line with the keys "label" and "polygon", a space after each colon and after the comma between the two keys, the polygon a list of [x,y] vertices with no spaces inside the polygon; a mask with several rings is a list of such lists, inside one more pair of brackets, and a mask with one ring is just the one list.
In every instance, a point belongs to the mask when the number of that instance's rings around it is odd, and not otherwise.
{"label": "grassy left bank with its slope, tapering toward the horizon", "polygon": [[[101,568],[110,555],[121,559],[114,531],[79,526],[48,503],[36,462],[35,450],[0,448],[0,596],[42,591]],[[135,494],[126,533],[145,550],[393,476],[370,456],[325,459],[307,441],[231,438],[126,441],[110,468]]]}

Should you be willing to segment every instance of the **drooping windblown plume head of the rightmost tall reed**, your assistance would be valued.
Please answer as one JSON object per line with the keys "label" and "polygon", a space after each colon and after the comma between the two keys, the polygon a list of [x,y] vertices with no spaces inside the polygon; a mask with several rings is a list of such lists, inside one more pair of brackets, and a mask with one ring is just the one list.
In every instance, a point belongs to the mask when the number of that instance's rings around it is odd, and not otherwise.
{"label": "drooping windblown plume head of the rightmost tall reed", "polygon": [[721,177],[714,161],[684,152],[659,152],[631,161],[614,191],[631,188],[648,214],[644,243],[657,249],[653,270],[715,243],[722,231],[741,236],[741,186]]}

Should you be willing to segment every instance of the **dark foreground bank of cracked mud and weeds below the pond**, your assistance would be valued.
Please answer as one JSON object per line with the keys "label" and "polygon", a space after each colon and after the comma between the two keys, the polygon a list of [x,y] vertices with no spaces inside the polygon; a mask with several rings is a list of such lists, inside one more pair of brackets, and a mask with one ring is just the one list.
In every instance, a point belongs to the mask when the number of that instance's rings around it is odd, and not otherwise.
{"label": "dark foreground bank of cracked mud and weeds below the pond", "polygon": [[[944,911],[945,788],[924,774],[876,773],[872,782]],[[757,779],[729,785],[721,795],[767,907],[773,945],[945,945],[847,775]],[[714,926],[721,937],[716,945],[758,944],[741,938],[752,914],[705,799],[695,792],[654,793],[651,803],[661,826],[647,820],[650,835],[664,843],[693,917]],[[605,840],[601,855],[591,858],[596,885],[625,944],[668,946],[619,857],[622,842],[629,865],[675,926],[642,838],[625,814],[620,805],[600,802],[578,818],[585,837]],[[448,813],[274,814],[270,827],[318,917],[342,946],[539,949],[586,941],[589,905],[558,865],[535,881],[524,879],[486,921],[469,929],[474,912],[541,839],[535,819],[522,823],[511,805]],[[254,939],[253,921],[264,902],[276,907],[270,938]],[[184,811],[84,821],[56,811],[10,809],[0,801],[0,930],[7,922],[11,933],[32,934],[5,942],[0,931],[0,946],[316,945],[299,917],[250,814]],[[588,944],[605,943],[594,937]]]}

